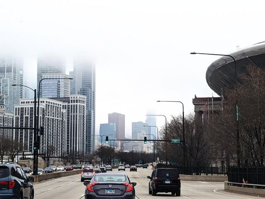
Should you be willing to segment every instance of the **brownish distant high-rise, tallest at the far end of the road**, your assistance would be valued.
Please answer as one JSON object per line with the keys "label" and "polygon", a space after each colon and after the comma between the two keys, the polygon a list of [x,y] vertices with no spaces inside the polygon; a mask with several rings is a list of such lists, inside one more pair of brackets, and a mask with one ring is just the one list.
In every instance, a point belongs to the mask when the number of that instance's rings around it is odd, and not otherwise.
{"label": "brownish distant high-rise, tallest at the far end of the road", "polygon": [[108,123],[116,125],[116,139],[125,139],[125,115],[117,112],[108,113]]}

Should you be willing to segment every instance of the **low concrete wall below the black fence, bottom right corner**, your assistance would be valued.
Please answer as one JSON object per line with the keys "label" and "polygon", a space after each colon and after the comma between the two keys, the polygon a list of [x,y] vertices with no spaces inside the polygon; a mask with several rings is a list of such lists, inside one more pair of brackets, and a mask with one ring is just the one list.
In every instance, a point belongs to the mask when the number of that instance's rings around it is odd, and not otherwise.
{"label": "low concrete wall below the black fence, bottom right corner", "polygon": [[255,195],[255,196],[265,196],[265,189],[259,189],[256,187],[247,187],[247,185],[232,185],[227,181],[224,182],[224,189],[230,192],[237,192],[241,194]]}

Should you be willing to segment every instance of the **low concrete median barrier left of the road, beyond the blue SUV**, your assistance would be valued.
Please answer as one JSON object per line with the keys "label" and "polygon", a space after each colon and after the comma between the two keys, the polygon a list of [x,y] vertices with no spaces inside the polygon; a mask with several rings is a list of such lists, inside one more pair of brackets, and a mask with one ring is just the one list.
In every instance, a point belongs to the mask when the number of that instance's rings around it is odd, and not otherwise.
{"label": "low concrete median barrier left of the road, beyond the blue SUV", "polygon": [[42,175],[37,175],[33,177],[34,177],[34,182],[41,182],[44,180],[58,178],[58,177],[77,175],[77,174],[81,174],[81,172],[82,172],[82,169],[75,169],[73,171],[53,172],[53,173],[42,174]]}

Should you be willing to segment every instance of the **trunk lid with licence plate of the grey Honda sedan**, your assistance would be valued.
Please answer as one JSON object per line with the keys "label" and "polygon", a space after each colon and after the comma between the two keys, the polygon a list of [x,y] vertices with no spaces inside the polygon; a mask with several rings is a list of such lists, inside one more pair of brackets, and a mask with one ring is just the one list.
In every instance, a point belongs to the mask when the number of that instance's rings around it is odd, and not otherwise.
{"label": "trunk lid with licence plate of the grey Honda sedan", "polygon": [[93,185],[93,188],[99,196],[122,196],[127,189],[127,185],[109,182]]}

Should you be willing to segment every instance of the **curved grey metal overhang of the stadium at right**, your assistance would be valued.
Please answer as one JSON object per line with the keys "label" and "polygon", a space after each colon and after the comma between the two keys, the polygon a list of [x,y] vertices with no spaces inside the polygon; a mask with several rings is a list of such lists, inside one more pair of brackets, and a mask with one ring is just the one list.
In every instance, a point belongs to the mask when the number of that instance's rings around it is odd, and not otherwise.
{"label": "curved grey metal overhang of the stadium at right", "polygon": [[[265,68],[265,42],[254,44],[231,54],[236,60],[237,77],[246,71],[247,66]],[[221,96],[221,89],[233,88],[236,84],[235,62],[223,56],[213,62],[206,71],[206,81],[210,88]],[[240,79],[238,78],[238,82]]]}

